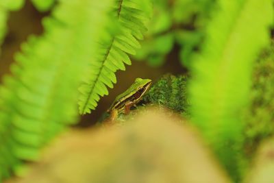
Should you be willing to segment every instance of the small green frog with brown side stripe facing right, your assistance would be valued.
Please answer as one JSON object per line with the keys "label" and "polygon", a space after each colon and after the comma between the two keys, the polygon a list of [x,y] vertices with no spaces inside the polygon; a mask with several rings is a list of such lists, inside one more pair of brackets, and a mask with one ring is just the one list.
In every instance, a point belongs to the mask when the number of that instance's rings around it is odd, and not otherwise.
{"label": "small green frog with brown side stripe facing right", "polygon": [[110,112],[110,120],[114,121],[121,112],[129,114],[130,108],[138,103],[142,95],[149,90],[151,82],[149,79],[136,78],[134,84],[125,90],[124,93],[118,95],[110,106],[108,110]]}

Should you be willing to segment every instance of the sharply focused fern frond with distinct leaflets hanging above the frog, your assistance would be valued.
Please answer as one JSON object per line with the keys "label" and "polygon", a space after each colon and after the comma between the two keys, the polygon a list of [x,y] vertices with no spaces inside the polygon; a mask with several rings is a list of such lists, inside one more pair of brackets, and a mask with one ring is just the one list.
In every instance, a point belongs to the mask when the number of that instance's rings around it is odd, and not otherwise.
{"label": "sharply focused fern frond with distinct leaflets hanging above the frog", "polygon": [[151,13],[149,0],[116,0],[114,14],[119,23],[119,32],[108,35],[101,41],[96,58],[91,60],[90,69],[80,86],[79,112],[90,113],[97,106],[100,96],[108,95],[108,87],[116,83],[114,73],[125,71],[125,64],[131,64],[128,54],[135,54],[140,48],[138,40],[147,30],[145,22]]}

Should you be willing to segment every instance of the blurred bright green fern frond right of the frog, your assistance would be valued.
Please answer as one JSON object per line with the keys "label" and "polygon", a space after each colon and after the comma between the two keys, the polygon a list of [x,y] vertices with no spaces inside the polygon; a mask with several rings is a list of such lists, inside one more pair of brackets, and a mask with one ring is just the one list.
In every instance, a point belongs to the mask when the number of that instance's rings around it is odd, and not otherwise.
{"label": "blurred bright green fern frond right of the frog", "polygon": [[217,8],[203,51],[190,67],[192,122],[238,181],[245,164],[241,115],[248,105],[253,61],[269,40],[273,1],[220,0]]}

